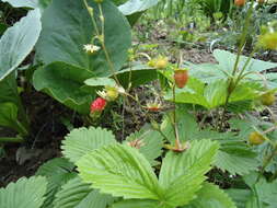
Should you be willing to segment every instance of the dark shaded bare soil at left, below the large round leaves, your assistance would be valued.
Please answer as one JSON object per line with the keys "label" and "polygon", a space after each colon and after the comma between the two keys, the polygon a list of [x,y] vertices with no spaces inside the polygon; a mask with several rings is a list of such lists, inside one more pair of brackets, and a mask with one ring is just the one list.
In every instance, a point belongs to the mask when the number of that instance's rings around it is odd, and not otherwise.
{"label": "dark shaded bare soil at left, below the large round leaves", "polygon": [[[59,116],[68,114],[65,107],[37,92],[23,94],[22,100],[27,106],[34,135],[24,143],[4,146],[5,155],[0,159],[0,187],[22,176],[34,175],[41,164],[60,157],[60,141],[67,134],[66,127],[59,122]],[[13,134],[0,129],[0,137]]]}

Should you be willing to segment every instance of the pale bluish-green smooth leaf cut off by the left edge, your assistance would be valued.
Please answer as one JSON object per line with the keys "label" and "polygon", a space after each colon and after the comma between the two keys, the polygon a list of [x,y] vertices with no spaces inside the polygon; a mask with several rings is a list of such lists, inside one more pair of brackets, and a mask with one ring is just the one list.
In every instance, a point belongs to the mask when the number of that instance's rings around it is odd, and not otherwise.
{"label": "pale bluish-green smooth leaf cut off by the left edge", "polygon": [[36,44],[42,25],[38,10],[8,28],[0,39],[0,81],[9,76],[26,58]]}

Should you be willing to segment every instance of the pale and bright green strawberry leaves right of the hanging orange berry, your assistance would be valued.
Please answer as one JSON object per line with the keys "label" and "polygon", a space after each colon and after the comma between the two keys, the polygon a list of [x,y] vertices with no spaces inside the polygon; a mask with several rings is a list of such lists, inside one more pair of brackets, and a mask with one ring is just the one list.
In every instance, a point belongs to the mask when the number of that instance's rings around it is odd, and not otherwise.
{"label": "pale and bright green strawberry leaves right of the hanging orange berry", "polygon": [[[235,105],[244,103],[245,109],[249,109],[252,106],[251,103],[255,102],[259,96],[263,97],[267,90],[273,92],[276,90],[275,73],[267,73],[265,78],[261,73],[275,68],[276,63],[241,56],[238,65],[240,69],[244,68],[244,74],[240,76],[243,80],[240,80],[238,88],[232,89],[233,86],[228,84],[228,80],[232,77],[235,55],[217,49],[213,51],[213,56],[219,63],[184,63],[185,68],[191,69],[188,73],[192,79],[189,79],[187,88],[176,91],[177,103],[196,104],[208,109],[227,104],[229,109],[234,111]],[[244,67],[245,65],[246,67]],[[172,70],[163,74],[169,80],[172,80],[173,73],[174,71]],[[266,85],[264,79],[267,80]],[[232,91],[231,94],[230,90]],[[166,95],[166,99],[172,100],[171,92]]]}

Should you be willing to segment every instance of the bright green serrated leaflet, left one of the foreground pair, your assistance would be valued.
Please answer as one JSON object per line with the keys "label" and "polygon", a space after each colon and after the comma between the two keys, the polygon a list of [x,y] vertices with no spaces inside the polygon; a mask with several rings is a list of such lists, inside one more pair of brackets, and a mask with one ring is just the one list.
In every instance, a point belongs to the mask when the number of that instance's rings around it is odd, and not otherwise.
{"label": "bright green serrated leaflet, left one of the foreground pair", "polygon": [[81,178],[102,193],[125,199],[159,199],[161,188],[147,159],[137,149],[109,145],[77,162]]}

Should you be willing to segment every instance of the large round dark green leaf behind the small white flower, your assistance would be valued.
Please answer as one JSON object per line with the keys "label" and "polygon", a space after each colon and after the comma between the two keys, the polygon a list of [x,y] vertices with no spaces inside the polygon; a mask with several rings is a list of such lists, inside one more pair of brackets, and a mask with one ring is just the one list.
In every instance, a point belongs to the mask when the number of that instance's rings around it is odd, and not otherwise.
{"label": "large round dark green leaf behind the small white flower", "polygon": [[[93,8],[100,27],[97,3],[88,2]],[[101,5],[105,19],[105,47],[114,70],[118,71],[126,61],[127,49],[130,47],[130,26],[111,1],[104,1]],[[53,1],[44,12],[42,22],[43,31],[36,49],[38,58],[45,63],[62,61],[93,72],[93,76],[86,79],[112,74],[103,48],[92,55],[83,49],[83,46],[90,44],[92,37],[96,35],[83,1]],[[101,27],[99,30],[101,31]]]}

